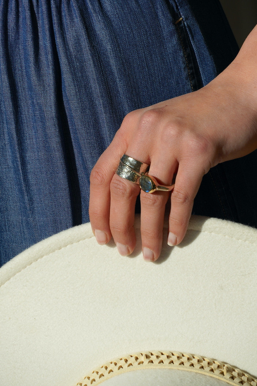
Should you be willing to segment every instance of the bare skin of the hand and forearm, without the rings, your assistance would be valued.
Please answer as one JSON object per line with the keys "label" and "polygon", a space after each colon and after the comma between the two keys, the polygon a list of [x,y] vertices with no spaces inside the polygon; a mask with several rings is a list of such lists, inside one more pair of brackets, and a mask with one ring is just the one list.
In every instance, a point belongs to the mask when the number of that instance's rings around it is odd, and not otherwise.
{"label": "bare skin of the hand and forearm, without the rings", "polygon": [[[144,259],[161,254],[164,214],[169,212],[169,245],[184,238],[204,174],[218,163],[257,148],[257,26],[233,62],[198,91],[128,113],[90,175],[89,216],[96,240],[113,237],[118,251],[134,251],[135,201],[140,194]],[[172,192],[145,193],[118,176],[120,157],[150,164],[148,174]]]}

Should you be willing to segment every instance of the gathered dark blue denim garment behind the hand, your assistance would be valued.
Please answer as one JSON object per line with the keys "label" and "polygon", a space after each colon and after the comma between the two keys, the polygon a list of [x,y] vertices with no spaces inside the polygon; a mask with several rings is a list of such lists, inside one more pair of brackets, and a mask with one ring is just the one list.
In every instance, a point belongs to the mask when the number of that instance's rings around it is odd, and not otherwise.
{"label": "gathered dark blue denim garment behind the hand", "polygon": [[[128,112],[201,88],[238,47],[216,0],[3,0],[0,15],[1,266],[89,221],[91,169]],[[193,214],[257,226],[254,163],[212,168]]]}

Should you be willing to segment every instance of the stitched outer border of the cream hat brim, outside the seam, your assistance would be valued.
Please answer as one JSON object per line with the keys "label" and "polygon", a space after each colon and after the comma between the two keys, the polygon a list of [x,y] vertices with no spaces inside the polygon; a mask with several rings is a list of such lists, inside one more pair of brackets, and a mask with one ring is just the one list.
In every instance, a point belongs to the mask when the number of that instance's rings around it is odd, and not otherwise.
{"label": "stitched outer border of the cream hat brim, outside the seam", "polygon": [[[168,225],[169,218],[166,215],[164,218],[164,228],[168,229]],[[134,228],[140,228],[140,213],[135,215]],[[230,239],[257,245],[256,228],[228,220],[222,220],[220,218],[192,215],[189,220],[188,230],[223,235]],[[0,286],[15,276],[15,274],[22,271],[22,269],[25,269],[27,266],[42,257],[47,256],[52,252],[59,251],[68,245],[90,239],[91,237],[95,236],[92,232],[90,222],[87,222],[85,224],[63,230],[37,242],[31,247],[25,249],[25,251],[22,251],[0,268]]]}

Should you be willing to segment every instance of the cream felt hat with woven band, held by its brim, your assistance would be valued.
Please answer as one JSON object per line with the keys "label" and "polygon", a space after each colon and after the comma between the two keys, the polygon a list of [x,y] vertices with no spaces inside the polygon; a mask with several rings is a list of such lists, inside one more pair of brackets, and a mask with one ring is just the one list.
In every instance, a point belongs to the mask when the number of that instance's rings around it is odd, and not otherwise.
{"label": "cream felt hat with woven band, held by its brim", "polygon": [[257,229],[192,215],[145,262],[90,223],[0,268],[1,386],[257,385]]}

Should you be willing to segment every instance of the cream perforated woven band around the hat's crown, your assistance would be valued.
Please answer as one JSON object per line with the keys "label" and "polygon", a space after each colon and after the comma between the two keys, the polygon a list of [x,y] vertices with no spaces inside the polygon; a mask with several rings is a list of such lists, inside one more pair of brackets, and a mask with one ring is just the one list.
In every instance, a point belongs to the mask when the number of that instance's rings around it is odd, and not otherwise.
{"label": "cream perforated woven band around the hat's crown", "polygon": [[257,379],[215,359],[173,351],[147,351],[107,362],[78,382],[76,386],[96,386],[115,375],[146,368],[180,369],[206,374],[232,385],[257,386]]}

